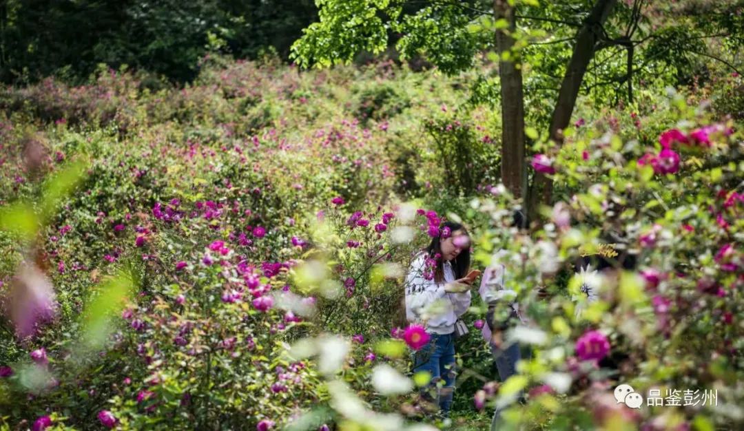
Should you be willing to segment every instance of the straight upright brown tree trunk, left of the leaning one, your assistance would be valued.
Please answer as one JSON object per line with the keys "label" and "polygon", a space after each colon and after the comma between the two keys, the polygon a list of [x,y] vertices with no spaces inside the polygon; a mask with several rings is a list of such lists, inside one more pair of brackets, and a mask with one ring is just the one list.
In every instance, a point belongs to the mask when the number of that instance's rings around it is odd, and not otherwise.
{"label": "straight upright brown tree trunk, left of the leaning one", "polygon": [[[516,27],[514,7],[507,0],[493,1],[496,20],[506,19],[509,28],[496,30],[498,76],[501,78],[501,182],[516,197],[525,191],[525,102],[522,93],[522,68],[519,58],[511,51]],[[508,59],[503,54],[507,52]]]}

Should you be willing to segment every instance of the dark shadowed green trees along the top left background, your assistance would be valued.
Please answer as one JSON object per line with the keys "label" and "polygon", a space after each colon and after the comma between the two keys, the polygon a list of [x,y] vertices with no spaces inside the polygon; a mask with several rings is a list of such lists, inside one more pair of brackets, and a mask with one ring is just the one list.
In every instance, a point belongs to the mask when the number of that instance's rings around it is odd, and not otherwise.
{"label": "dark shadowed green trees along the top left background", "polygon": [[209,54],[257,59],[272,48],[286,58],[315,18],[311,0],[11,0],[0,6],[0,80],[79,84],[104,63],[144,72],[147,85],[187,82]]}

